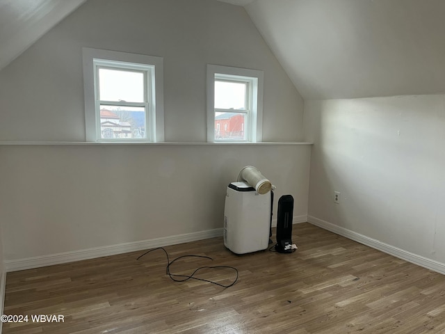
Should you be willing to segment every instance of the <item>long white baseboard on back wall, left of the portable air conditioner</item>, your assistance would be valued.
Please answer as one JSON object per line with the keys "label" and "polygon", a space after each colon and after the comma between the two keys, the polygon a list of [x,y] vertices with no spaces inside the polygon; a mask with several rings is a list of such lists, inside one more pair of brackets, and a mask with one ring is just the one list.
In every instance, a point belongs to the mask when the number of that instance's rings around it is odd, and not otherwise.
{"label": "long white baseboard on back wall, left of the portable air conditioner", "polygon": [[53,264],[88,260],[88,259],[93,259],[95,257],[129,253],[143,249],[184,244],[185,242],[189,241],[210,239],[213,237],[221,237],[221,236],[223,236],[223,228],[216,228],[214,230],[204,230],[200,232],[177,234],[171,237],[162,237],[162,238],[149,239],[143,241],[133,241],[111,246],[74,250],[72,252],[28,257],[19,260],[6,260],[5,268],[6,272],[24,270],[24,269],[33,269],[33,268],[51,266]]}

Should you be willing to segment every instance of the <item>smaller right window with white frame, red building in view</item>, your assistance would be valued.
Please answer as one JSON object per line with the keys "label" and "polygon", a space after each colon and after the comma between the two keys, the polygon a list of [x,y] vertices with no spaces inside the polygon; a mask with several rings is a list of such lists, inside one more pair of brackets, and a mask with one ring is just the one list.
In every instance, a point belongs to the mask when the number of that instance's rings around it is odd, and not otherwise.
{"label": "smaller right window with white frame, red building in view", "polygon": [[207,141],[261,141],[263,77],[259,70],[207,65]]}

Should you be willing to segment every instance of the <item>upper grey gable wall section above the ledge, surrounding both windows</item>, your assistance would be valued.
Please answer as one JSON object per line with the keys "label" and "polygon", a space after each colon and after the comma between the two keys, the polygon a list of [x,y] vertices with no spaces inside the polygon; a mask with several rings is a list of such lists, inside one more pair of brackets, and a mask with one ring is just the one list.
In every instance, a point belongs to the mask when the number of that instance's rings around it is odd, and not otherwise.
{"label": "upper grey gable wall section above the ledge, surrounding both windows", "polygon": [[82,47],[161,56],[165,141],[206,141],[206,66],[264,70],[264,141],[302,139],[303,102],[243,7],[90,0],[0,72],[0,141],[85,141]]}

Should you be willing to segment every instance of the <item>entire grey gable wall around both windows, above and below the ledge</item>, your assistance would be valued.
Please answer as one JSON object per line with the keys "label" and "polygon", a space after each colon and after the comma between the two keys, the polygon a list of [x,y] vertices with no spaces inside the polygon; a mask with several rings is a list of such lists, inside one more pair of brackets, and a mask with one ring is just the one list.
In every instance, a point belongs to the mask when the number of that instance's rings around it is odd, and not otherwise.
{"label": "entire grey gable wall around both windows, above and below the ledge", "polygon": [[[207,63],[264,70],[264,141],[303,136],[302,98],[242,7],[90,0],[0,72],[0,141],[85,141],[82,47],[163,57],[165,141],[206,141]],[[305,216],[309,156],[307,145],[0,145],[5,260],[222,228],[245,165]]]}

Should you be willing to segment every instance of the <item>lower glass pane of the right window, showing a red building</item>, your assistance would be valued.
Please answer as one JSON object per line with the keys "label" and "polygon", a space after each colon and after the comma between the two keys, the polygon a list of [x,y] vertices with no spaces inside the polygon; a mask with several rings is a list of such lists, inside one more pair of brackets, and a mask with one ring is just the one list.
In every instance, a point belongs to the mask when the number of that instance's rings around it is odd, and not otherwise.
{"label": "lower glass pane of the right window, showing a red building", "polygon": [[215,113],[215,139],[245,141],[245,113]]}

